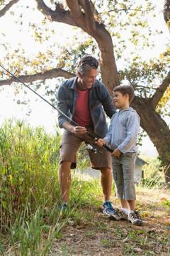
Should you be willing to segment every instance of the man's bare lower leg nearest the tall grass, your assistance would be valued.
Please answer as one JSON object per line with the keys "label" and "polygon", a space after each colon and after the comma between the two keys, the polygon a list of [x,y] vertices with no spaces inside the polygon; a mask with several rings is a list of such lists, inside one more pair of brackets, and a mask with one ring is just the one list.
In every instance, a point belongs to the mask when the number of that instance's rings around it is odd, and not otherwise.
{"label": "man's bare lower leg nearest the tall grass", "polygon": [[62,161],[59,167],[59,183],[60,183],[60,193],[62,196],[63,203],[69,202],[69,191],[72,183],[72,174],[70,170],[71,162]]}

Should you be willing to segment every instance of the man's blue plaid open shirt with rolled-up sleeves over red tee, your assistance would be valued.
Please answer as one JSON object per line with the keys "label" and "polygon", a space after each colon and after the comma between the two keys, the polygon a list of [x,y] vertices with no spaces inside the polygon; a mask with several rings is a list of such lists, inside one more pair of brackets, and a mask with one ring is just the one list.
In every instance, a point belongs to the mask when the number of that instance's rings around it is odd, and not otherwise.
{"label": "man's blue plaid open shirt with rolled-up sleeves over red tee", "polygon": [[[57,91],[57,108],[71,119],[75,112],[77,96],[77,77],[63,82]],[[103,138],[108,132],[104,111],[111,118],[116,110],[111,95],[99,80],[96,80],[89,89],[89,110],[94,124],[94,134]],[[60,128],[64,122],[68,121],[60,112],[58,120]]]}

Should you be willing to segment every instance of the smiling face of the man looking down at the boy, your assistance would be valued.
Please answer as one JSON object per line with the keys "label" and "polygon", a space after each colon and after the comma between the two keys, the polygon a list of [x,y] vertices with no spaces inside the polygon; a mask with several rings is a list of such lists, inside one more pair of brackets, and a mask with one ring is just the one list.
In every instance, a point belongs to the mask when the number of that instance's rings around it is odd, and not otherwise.
{"label": "smiling face of the man looking down at the boy", "polygon": [[90,89],[92,84],[96,82],[97,75],[98,75],[98,69],[95,69],[95,68],[86,70],[85,75],[81,75],[79,73],[79,77],[77,80],[79,90]]}

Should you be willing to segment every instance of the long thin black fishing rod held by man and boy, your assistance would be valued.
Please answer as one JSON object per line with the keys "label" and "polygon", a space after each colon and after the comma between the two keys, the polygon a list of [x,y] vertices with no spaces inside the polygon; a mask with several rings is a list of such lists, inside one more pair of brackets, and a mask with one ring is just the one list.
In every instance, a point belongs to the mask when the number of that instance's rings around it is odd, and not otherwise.
{"label": "long thin black fishing rod held by man and boy", "polygon": [[[1,68],[3,68],[4,70],[6,70],[6,68],[4,68],[2,65],[0,65]],[[52,105],[50,102],[48,102],[47,100],[45,100],[44,97],[42,97],[41,95],[38,94],[38,92],[35,92],[35,90],[31,89],[28,85],[25,84],[25,82],[21,81],[19,78],[17,78],[15,75],[13,75],[11,72],[9,72],[8,70],[6,70],[7,73],[9,73],[10,75],[13,76],[13,78],[15,78],[16,80],[18,80],[19,82],[21,82],[23,85],[25,85],[28,89],[30,89],[32,92],[35,93],[35,95],[38,95],[38,97],[40,97],[42,100],[44,100],[45,102],[47,102],[47,104],[49,104],[51,107],[53,107],[55,110],[57,110],[58,112],[60,112],[60,114],[62,114],[64,117],[66,117],[69,122],[72,122],[74,125],[76,126],[79,126],[79,124],[77,124],[77,122],[74,122],[74,120],[72,120],[71,118],[69,118],[66,114],[64,114],[61,110],[59,110],[57,107],[55,107],[54,105]],[[98,142],[98,139],[93,135],[91,134],[90,132],[86,132],[86,134],[89,135],[89,137],[91,137],[92,139],[94,139],[95,142]],[[103,144],[103,147],[105,149],[107,149],[108,151],[110,151],[111,153],[113,152],[113,150],[108,147],[106,144]],[[93,149],[87,149],[87,150],[93,150]]]}

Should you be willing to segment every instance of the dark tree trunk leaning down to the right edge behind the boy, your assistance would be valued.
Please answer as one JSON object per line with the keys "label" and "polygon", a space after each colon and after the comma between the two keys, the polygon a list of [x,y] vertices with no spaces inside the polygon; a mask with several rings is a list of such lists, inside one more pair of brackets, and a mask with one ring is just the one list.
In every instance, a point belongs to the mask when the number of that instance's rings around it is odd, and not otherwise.
{"label": "dark tree trunk leaning down to the right edge behind the boy", "polygon": [[170,130],[162,117],[150,105],[149,99],[135,97],[132,107],[140,114],[140,125],[156,146],[164,166],[165,182],[170,182]]}

